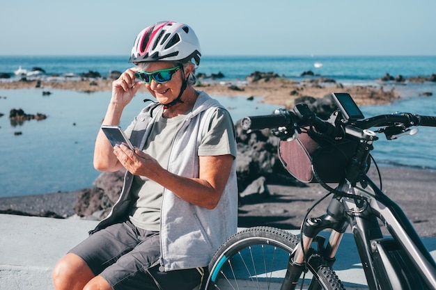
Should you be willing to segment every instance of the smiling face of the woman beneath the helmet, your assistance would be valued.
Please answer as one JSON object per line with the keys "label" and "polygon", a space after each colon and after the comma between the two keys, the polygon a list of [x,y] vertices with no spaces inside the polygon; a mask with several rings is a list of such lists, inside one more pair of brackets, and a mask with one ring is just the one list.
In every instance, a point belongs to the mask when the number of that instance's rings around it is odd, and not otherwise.
{"label": "smiling face of the woman beneath the helmet", "polygon": [[[156,62],[149,63],[145,72],[156,72],[157,70],[167,70],[177,65],[173,63]],[[180,93],[183,81],[183,67],[173,73],[170,81],[158,83],[153,76],[150,76],[150,83],[146,83],[146,88],[160,104],[168,104],[176,99]]]}

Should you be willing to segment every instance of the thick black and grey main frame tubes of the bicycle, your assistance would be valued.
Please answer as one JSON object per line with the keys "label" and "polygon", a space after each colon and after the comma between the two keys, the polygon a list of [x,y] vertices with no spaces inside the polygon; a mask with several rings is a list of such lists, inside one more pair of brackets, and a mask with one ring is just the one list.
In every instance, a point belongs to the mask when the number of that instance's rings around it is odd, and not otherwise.
{"label": "thick black and grey main frame tubes of the bicycle", "polygon": [[[405,284],[410,284],[414,285],[414,289],[419,289],[419,285],[416,285],[418,274],[428,287],[436,289],[435,261],[412,224],[400,207],[387,198],[371,179],[367,179],[367,182],[366,189],[353,189],[354,194],[368,201],[368,205],[361,213],[351,214],[349,220],[368,286],[379,289],[375,287],[379,284],[380,289],[403,289]],[[355,211],[354,200],[343,199],[342,204],[349,213]],[[377,219],[384,223],[391,238],[382,236]],[[398,250],[402,250],[405,257],[394,259],[393,251]]]}

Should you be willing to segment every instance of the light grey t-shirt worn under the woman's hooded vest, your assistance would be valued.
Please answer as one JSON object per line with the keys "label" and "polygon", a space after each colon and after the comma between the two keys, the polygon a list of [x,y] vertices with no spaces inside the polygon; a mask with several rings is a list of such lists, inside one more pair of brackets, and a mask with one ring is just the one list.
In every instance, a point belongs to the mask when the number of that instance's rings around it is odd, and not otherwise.
{"label": "light grey t-shirt worn under the woman's hooded vest", "polygon": [[[157,113],[160,117],[153,124],[153,129],[146,140],[143,152],[153,156],[163,168],[168,168],[173,138],[176,136],[178,127],[185,120],[186,115],[163,118],[162,107],[156,108],[154,113]],[[130,128],[127,128],[126,131],[130,131]],[[233,134],[233,123],[228,111],[218,108],[212,115],[208,132],[198,147],[198,156],[225,154],[236,156],[235,143],[231,141],[234,140]],[[159,231],[164,187],[146,177],[135,175],[131,191],[134,198],[137,199],[136,202],[132,203],[130,211],[132,223],[142,229]]]}

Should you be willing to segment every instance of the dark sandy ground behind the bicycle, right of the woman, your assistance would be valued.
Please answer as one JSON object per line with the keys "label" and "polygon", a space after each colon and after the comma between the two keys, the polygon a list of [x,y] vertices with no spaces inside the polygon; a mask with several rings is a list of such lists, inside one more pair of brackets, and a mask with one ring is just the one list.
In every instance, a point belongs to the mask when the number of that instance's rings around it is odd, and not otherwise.
{"label": "dark sandy ground behind the bicycle, right of the woman", "polygon": [[[382,190],[403,209],[416,232],[420,236],[436,236],[436,171],[381,167],[380,172]],[[379,184],[375,168],[371,167],[368,174],[375,184]],[[270,198],[240,207],[240,226],[270,225],[297,229],[309,208],[327,194],[320,184],[308,184],[307,187],[269,184],[268,188]],[[315,207],[310,216],[325,214],[330,199]]]}

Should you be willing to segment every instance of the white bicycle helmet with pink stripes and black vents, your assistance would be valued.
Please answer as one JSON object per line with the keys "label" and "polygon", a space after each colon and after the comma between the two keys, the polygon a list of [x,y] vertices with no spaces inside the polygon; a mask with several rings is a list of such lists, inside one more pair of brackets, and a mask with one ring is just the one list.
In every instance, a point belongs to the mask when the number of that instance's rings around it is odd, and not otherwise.
{"label": "white bicycle helmet with pink stripes and black vents", "polygon": [[143,29],[134,40],[130,63],[171,61],[200,63],[201,51],[194,30],[179,22],[157,22]]}

